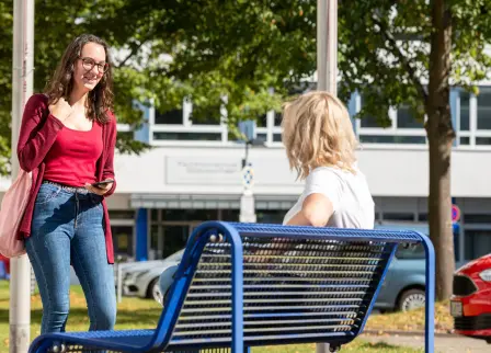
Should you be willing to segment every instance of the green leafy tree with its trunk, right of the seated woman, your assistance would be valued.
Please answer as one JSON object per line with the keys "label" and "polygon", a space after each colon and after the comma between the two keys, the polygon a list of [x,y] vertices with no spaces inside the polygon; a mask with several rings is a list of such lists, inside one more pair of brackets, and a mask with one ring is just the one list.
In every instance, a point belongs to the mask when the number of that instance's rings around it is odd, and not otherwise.
{"label": "green leafy tree with its trunk, right of the seated woman", "polygon": [[423,122],[430,151],[430,237],[436,252],[436,295],[452,295],[450,155],[455,138],[449,89],[476,91],[490,57],[488,0],[343,0],[340,5],[342,94],[358,90],[359,116],[388,122],[390,106],[409,104]]}

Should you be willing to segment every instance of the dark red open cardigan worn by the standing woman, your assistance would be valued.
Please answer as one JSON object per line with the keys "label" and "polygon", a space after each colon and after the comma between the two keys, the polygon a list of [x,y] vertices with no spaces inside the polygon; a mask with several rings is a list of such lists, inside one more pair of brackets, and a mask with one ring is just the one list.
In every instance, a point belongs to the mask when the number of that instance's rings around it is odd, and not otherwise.
{"label": "dark red open cardigan worn by the standing woman", "polygon": [[[30,237],[31,223],[34,212],[34,202],[43,183],[44,158],[56,140],[58,132],[64,128],[64,123],[49,113],[48,99],[45,94],[34,94],[25,104],[22,116],[21,133],[18,143],[18,157],[21,168],[32,172],[33,187],[27,202],[24,217],[20,227],[20,237]],[[110,112],[110,122],[102,125],[103,150],[96,162],[95,176],[98,180],[114,179],[114,147],[116,145],[116,118]],[[116,189],[114,182],[111,190],[104,195],[110,196]],[[114,263],[113,237],[105,200],[102,201],[104,210],[105,246],[107,262]]]}

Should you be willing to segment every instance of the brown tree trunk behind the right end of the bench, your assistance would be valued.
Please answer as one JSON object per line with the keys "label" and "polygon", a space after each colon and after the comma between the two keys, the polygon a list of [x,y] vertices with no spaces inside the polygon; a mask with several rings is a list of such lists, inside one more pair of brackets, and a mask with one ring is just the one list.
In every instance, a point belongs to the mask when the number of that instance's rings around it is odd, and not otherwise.
{"label": "brown tree trunk behind the right end of the bench", "polygon": [[455,271],[450,155],[455,132],[449,106],[452,14],[448,1],[433,0],[426,134],[430,144],[430,238],[436,253],[436,298],[452,295]]}

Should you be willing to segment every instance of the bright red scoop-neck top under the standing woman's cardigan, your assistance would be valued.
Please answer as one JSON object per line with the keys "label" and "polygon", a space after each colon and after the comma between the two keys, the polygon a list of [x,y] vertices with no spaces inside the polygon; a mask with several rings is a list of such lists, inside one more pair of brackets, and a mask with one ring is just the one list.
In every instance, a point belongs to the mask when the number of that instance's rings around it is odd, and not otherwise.
{"label": "bright red scoop-neck top under the standing woman's cardigan", "polygon": [[62,128],[44,159],[44,179],[76,187],[94,183],[102,148],[102,127],[98,122],[87,132]]}

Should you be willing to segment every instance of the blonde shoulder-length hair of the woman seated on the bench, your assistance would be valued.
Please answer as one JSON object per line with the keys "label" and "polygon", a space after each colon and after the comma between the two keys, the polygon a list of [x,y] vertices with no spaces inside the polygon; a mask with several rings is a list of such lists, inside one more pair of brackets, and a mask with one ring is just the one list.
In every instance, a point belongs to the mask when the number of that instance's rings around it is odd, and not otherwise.
{"label": "blonde shoulder-length hair of the woman seated on the bench", "polygon": [[300,180],[317,167],[355,172],[356,138],[343,103],[328,92],[305,93],[283,106],[282,140]]}

